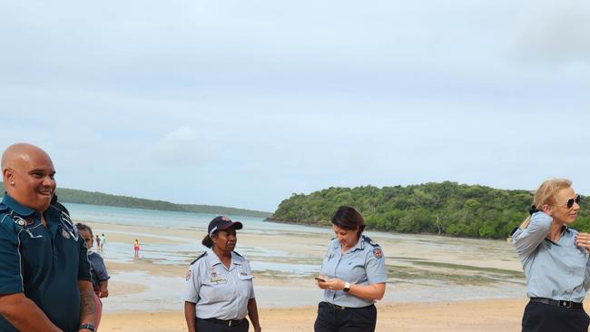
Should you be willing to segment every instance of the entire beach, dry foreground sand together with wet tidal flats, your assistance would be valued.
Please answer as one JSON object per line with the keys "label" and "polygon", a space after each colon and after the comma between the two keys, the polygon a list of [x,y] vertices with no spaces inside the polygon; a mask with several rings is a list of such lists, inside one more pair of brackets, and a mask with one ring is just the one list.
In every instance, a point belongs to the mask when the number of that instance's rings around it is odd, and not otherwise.
{"label": "entire beach, dry foreground sand together with wet tidal flats", "polygon": [[[202,231],[113,225],[87,221],[95,233],[105,232],[103,252],[110,281],[104,300],[101,331],[185,331],[180,289],[188,263],[202,252]],[[239,234],[248,259],[264,260],[267,252],[289,252],[269,259],[270,265],[290,259],[320,262],[325,234]],[[513,249],[503,241],[433,236],[371,235],[387,253],[388,289],[377,304],[377,331],[517,331],[526,305],[524,278]],[[132,252],[133,239],[143,249],[189,246],[186,261],[128,259],[113,253],[119,246]],[[162,247],[163,246],[163,247]],[[482,255],[482,253],[484,253]],[[182,256],[181,255],[181,256]],[[258,256],[257,256],[258,255]],[[146,254],[147,256],[147,254]],[[265,266],[265,265],[261,265]],[[509,281],[509,282],[508,282]],[[320,291],[302,274],[255,270],[255,288],[264,331],[312,331]]]}

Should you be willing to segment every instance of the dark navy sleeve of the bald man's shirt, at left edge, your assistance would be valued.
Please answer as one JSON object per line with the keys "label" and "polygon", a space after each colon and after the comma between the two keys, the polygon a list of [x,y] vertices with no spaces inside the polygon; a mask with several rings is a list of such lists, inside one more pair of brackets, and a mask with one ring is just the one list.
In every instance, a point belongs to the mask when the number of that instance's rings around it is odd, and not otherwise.
{"label": "dark navy sleeve of the bald man's shirt, at left edge", "polygon": [[[22,293],[21,259],[18,252],[18,237],[6,224],[7,216],[0,223],[0,294]],[[12,226],[12,225],[11,225]]]}

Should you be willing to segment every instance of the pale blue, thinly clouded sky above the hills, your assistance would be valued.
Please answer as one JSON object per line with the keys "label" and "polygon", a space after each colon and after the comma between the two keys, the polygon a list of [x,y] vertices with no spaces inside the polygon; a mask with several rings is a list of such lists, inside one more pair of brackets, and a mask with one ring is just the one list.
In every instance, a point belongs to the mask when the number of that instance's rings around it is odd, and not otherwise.
{"label": "pale blue, thinly clouded sky above the hills", "polygon": [[590,3],[0,0],[0,150],[58,187],[274,211],[332,186],[590,195]]}

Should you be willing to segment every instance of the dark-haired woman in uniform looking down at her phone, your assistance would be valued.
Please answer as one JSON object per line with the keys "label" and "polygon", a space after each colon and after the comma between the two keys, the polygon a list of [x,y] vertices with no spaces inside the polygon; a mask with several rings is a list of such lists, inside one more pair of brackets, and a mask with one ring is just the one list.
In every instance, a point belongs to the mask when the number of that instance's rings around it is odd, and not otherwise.
{"label": "dark-haired woman in uniform looking down at her phone", "polygon": [[375,331],[375,301],[383,298],[387,275],[377,243],[362,234],[365,220],[353,208],[341,206],[332,217],[336,237],[321,264],[318,287],[324,298],[315,332]]}

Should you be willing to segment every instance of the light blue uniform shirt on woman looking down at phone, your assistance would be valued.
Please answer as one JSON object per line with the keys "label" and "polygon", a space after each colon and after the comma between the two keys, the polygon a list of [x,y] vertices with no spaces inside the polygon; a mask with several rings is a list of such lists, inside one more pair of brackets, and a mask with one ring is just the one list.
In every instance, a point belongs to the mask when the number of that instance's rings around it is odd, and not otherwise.
{"label": "light blue uniform shirt on woman looking down at phone", "polygon": [[[383,251],[377,243],[364,235],[344,254],[339,240],[332,239],[321,264],[320,275],[348,281],[351,286],[379,284],[388,280]],[[350,308],[362,308],[375,303],[372,299],[357,298],[343,290],[331,289],[324,290],[323,300]]]}

